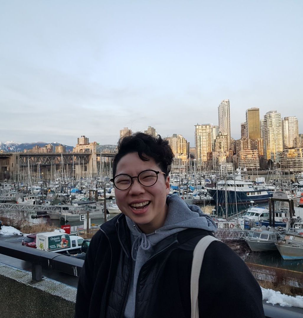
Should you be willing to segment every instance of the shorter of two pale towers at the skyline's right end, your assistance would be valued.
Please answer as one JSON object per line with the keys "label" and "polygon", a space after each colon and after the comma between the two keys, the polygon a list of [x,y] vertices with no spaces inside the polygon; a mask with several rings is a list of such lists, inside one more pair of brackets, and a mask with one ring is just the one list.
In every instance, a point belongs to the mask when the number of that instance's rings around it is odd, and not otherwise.
{"label": "shorter of two pale towers at the skyline's right end", "polygon": [[299,146],[299,122],[296,116],[282,119],[283,149]]}

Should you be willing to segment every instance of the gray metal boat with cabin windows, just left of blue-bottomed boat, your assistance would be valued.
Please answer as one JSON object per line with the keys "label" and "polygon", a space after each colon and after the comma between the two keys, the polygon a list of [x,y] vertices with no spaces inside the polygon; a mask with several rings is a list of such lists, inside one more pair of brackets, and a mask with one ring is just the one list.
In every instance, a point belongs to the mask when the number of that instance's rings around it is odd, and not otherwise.
{"label": "gray metal boat with cabin windows, just left of blue-bottomed boat", "polygon": [[278,240],[278,232],[274,227],[267,230],[266,226],[261,229],[251,230],[245,241],[253,252],[275,251],[275,243]]}

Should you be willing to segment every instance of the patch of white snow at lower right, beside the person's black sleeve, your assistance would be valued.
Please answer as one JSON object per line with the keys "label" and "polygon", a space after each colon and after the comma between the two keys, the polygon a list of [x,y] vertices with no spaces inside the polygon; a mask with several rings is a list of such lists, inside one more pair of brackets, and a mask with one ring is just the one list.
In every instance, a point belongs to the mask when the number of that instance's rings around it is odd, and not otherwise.
{"label": "patch of white snow at lower right, beside the person's black sleeve", "polygon": [[261,287],[263,300],[266,300],[268,304],[279,304],[283,307],[299,307],[303,308],[303,296],[289,296],[276,292],[272,289],[265,289]]}

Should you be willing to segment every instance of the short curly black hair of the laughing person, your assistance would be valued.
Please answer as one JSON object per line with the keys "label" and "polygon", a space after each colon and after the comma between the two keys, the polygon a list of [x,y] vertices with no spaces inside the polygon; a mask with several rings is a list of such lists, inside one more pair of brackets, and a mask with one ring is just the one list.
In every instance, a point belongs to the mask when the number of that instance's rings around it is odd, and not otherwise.
{"label": "short curly black hair of the laughing person", "polygon": [[[156,164],[159,165],[162,172],[166,176],[170,173],[170,165],[173,161],[174,154],[170,148],[169,142],[164,140],[160,135],[153,137],[141,132],[134,133],[130,136],[120,138],[118,142],[118,153],[114,158],[112,165],[112,176],[116,175],[117,164],[119,160],[132,152],[137,152],[140,159],[148,161],[146,158],[153,158]],[[143,154],[145,156],[143,156]]]}

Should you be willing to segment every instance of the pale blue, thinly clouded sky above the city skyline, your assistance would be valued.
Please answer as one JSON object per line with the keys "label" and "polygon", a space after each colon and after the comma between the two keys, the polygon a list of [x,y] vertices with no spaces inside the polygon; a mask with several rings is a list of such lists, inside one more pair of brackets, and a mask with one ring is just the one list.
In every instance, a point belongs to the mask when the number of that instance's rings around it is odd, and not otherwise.
{"label": "pale blue, thinly clouded sky above the city skyline", "polygon": [[0,141],[115,144],[123,127],[182,134],[245,110],[297,116],[303,1],[0,2]]}

